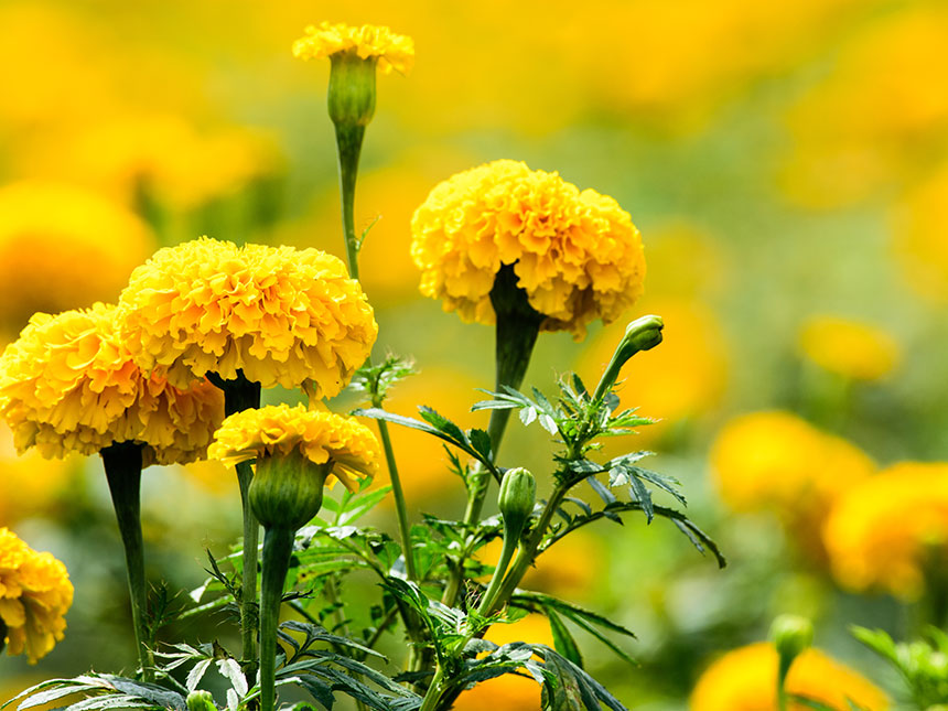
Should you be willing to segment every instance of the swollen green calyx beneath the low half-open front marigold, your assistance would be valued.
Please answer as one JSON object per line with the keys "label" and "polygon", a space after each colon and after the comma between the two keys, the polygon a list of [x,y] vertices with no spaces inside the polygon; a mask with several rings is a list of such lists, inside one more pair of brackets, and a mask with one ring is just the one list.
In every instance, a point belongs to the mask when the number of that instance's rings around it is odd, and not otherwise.
{"label": "swollen green calyx beneath the low half-open front marigold", "polygon": [[265,527],[304,526],[323,505],[323,485],[332,468],[332,460],[314,464],[298,452],[260,457],[249,492],[254,515]]}

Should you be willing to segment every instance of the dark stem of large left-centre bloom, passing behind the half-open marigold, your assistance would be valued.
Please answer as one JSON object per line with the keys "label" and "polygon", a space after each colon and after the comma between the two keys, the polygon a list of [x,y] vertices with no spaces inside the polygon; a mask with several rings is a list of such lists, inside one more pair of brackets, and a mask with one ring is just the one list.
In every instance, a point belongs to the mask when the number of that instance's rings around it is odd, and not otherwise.
{"label": "dark stem of large left-centre bloom, passing behind the half-open marigold", "polygon": [[[207,379],[224,390],[225,416],[260,407],[260,384],[248,380],[243,370],[233,380],[224,380],[216,374]],[[254,677],[257,664],[257,549],[259,529],[257,517],[250,509],[249,491],[254,481],[254,470],[249,462],[236,466],[237,484],[240,487],[240,505],[244,514],[243,584],[240,588],[240,639],[243,645],[243,667],[249,678]]]}

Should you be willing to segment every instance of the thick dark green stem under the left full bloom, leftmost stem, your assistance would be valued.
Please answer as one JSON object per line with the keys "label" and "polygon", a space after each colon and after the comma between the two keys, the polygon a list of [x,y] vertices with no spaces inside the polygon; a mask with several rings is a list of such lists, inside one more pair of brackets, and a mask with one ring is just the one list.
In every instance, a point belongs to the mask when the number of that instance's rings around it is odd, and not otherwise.
{"label": "thick dark green stem under the left full bloom, leftmost stem", "polygon": [[146,681],[151,681],[154,658],[146,643],[148,588],[144,581],[144,543],[141,537],[141,450],[140,444],[122,442],[105,448],[101,455],[125,547],[131,618],[141,676]]}

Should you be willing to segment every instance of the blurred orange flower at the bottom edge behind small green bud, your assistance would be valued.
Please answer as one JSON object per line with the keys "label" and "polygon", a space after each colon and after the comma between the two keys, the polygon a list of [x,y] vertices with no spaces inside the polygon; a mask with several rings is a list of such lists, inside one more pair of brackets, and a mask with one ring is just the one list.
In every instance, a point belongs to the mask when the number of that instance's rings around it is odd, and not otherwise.
{"label": "blurred orange flower at the bottom edge behind small green bud", "polygon": [[[757,643],[729,651],[714,661],[691,692],[691,711],[776,711],[777,651],[769,643]],[[807,649],[794,661],[786,689],[847,709],[851,699],[860,709],[885,711],[888,699],[865,677],[831,659],[818,649]],[[790,711],[804,711],[790,703]]]}

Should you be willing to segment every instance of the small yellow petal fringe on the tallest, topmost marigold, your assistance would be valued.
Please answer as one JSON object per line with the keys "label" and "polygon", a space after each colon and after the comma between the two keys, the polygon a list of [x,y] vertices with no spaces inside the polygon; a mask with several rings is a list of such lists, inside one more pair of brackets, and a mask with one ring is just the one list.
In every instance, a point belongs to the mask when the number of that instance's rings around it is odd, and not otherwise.
{"label": "small yellow petal fringe on the tallest, topmost marigold", "polygon": [[351,28],[347,24],[321,22],[310,25],[306,35],[293,42],[293,56],[301,60],[330,57],[340,52],[353,52],[359,58],[376,57],[379,68],[386,74],[392,69],[408,74],[414,63],[414,42],[411,37],[396,34],[385,26],[365,24]]}

